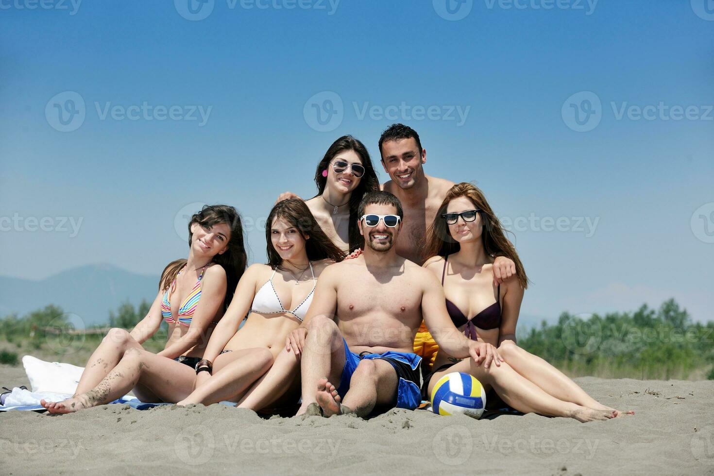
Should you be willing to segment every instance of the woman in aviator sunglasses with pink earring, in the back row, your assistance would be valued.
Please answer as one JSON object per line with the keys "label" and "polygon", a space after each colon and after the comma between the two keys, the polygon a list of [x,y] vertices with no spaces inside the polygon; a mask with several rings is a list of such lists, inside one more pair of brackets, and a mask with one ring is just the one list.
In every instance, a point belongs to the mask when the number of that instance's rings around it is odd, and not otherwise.
{"label": "woman in aviator sunglasses with pink earring, in the back row", "polygon": [[[346,253],[361,248],[357,207],[365,193],[379,190],[367,148],[353,136],[342,136],[327,149],[315,171],[317,195],[306,201],[326,235]],[[278,197],[298,198],[291,192]]]}

